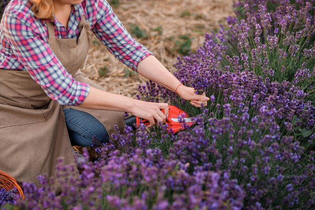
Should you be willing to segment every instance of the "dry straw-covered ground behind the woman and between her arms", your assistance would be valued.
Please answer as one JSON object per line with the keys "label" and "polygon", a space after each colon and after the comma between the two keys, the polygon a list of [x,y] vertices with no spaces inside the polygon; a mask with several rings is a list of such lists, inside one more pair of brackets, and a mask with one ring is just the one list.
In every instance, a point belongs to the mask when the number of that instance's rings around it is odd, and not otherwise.
{"label": "dry straw-covered ground behind the woman and between her arms", "polygon": [[[206,32],[225,24],[232,15],[232,0],[107,0],[124,27],[168,69],[179,50],[193,38],[191,50],[202,45]],[[118,3],[118,4],[117,4]],[[142,34],[141,34],[142,33]],[[181,36],[188,39],[181,39]],[[146,36],[146,37],[145,37]],[[135,97],[137,87],[147,81],[120,63],[95,37],[82,72],[107,91]],[[182,47],[180,47],[183,44]]]}

